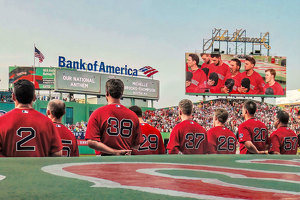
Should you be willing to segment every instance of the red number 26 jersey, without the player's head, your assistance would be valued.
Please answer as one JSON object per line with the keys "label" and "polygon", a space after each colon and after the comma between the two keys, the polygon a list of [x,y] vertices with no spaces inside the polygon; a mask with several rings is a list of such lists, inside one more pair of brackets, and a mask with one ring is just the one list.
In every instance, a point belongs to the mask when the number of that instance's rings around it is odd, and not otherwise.
{"label": "red number 26 jersey, without the player's head", "polygon": [[235,154],[236,137],[226,127],[217,126],[207,131],[208,153]]}

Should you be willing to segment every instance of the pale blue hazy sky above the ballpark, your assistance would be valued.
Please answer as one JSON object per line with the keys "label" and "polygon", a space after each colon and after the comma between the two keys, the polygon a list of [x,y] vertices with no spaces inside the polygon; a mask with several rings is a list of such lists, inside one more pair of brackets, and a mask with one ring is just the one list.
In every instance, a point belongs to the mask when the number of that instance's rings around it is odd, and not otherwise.
{"label": "pale blue hazy sky above the ballpark", "polygon": [[213,28],[270,32],[270,55],[287,57],[287,89],[299,89],[299,7],[298,0],[0,0],[0,89],[8,66],[33,65],[35,44],[45,67],[64,56],[156,68],[156,108],[199,101],[185,95],[185,52],[201,51]]}

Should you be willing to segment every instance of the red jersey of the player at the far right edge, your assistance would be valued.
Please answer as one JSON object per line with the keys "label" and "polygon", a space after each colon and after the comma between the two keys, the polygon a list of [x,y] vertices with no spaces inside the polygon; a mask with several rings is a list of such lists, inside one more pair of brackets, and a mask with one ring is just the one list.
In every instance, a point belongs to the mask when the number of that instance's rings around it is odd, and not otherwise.
{"label": "red jersey of the player at the far right edge", "polygon": [[270,150],[280,154],[297,154],[298,137],[297,134],[288,127],[280,127],[274,131],[270,138]]}

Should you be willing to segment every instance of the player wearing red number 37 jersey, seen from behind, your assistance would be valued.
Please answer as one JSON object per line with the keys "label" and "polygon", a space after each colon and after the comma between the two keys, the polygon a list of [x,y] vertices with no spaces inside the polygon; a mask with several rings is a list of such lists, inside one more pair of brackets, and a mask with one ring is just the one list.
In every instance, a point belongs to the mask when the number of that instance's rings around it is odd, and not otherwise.
{"label": "player wearing red number 37 jersey, seen from behind", "polygon": [[169,154],[205,154],[207,151],[206,130],[192,120],[193,103],[184,99],[179,102],[179,116],[182,120],[170,135],[167,150]]}

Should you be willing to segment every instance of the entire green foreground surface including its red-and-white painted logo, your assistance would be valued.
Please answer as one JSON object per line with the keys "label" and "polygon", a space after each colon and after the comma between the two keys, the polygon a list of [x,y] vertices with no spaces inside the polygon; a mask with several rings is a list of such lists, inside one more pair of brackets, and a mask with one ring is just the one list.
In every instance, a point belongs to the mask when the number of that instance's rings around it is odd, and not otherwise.
{"label": "entire green foreground surface including its red-and-white painted logo", "polygon": [[0,194],[1,199],[300,199],[299,168],[299,156],[2,158]]}

